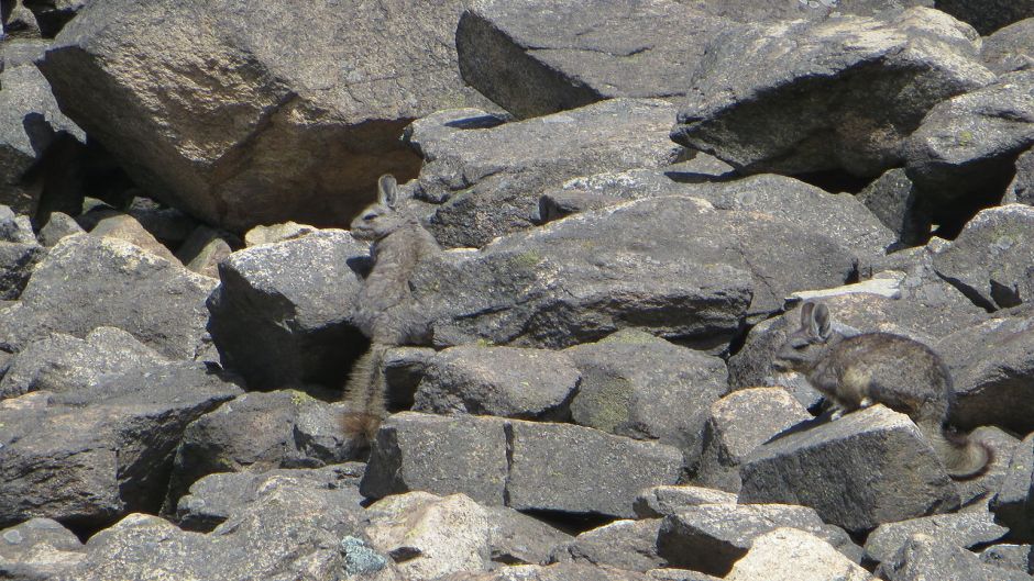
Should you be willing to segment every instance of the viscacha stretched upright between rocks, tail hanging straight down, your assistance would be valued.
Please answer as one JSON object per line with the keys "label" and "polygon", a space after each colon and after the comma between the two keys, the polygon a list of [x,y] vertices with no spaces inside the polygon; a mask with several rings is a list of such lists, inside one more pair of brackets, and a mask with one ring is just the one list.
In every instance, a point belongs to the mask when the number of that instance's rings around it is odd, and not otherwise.
{"label": "viscacha stretched upright between rocks, tail hanging straight down", "polygon": [[377,202],[352,221],[352,236],[370,241],[373,268],[352,311],[352,321],[371,340],[345,386],[345,431],[370,437],[387,415],[383,360],[388,348],[427,342],[426,317],[415,305],[409,277],[441,248],[420,222],[398,211],[398,186],[389,175],[377,181]]}

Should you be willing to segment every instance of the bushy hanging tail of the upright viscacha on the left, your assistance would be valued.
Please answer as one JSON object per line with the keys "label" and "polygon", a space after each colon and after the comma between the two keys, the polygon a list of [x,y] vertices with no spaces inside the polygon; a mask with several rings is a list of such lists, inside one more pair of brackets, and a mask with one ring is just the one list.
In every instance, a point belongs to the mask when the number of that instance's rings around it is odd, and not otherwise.
{"label": "bushy hanging tail of the upright viscacha on the left", "polygon": [[387,415],[384,393],[384,354],[391,345],[373,343],[352,366],[352,373],[344,387],[346,411],[341,426],[346,436],[358,444],[369,446],[377,427]]}

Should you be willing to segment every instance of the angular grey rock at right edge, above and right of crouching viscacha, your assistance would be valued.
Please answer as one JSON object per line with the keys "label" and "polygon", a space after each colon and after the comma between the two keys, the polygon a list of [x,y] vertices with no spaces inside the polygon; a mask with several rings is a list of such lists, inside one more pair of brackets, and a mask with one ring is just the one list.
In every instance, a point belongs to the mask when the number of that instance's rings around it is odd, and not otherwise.
{"label": "angular grey rock at right edge, above and right of crouching viscacha", "polygon": [[[1032,124],[1034,127],[1034,124]],[[989,311],[1034,299],[1034,208],[982,210],[958,238],[934,255],[937,273]]]}

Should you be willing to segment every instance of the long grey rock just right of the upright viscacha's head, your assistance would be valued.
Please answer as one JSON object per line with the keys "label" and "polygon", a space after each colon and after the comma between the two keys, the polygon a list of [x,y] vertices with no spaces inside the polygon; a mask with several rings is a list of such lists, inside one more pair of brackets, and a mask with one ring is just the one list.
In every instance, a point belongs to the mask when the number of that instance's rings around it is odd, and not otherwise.
{"label": "long grey rock just right of the upright viscacha's head", "polygon": [[661,100],[612,99],[466,129],[484,115],[444,111],[407,130],[425,160],[418,197],[440,204],[429,227],[443,246],[481,247],[526,230],[546,189],[598,171],[667,166],[682,149],[668,138],[674,108]]}

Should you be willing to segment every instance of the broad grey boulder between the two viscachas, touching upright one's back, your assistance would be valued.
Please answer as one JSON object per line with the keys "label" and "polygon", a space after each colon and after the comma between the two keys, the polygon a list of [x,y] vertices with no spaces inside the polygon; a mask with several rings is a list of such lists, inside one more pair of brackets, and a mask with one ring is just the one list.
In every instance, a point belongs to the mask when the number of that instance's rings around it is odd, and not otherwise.
{"label": "broad grey boulder between the two viscachas, touching upright one's back", "polygon": [[717,353],[744,317],[780,309],[795,290],[842,284],[855,261],[783,220],[669,197],[499,238],[418,268],[413,286],[439,345],[558,348],[631,327]]}

